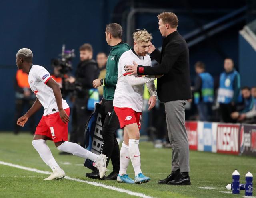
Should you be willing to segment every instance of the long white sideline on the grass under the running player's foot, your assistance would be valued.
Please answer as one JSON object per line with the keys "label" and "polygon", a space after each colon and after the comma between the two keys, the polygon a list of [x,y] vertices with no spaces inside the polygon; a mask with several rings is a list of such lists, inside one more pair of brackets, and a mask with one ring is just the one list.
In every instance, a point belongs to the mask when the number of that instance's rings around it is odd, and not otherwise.
{"label": "long white sideline on the grass under the running player's foot", "polygon": [[[26,171],[32,171],[32,172],[36,172],[36,173],[52,174],[52,173],[49,172],[49,171],[41,171],[41,170],[38,170],[38,169],[29,168],[29,167],[24,167],[24,166],[20,166],[20,165],[8,163],[8,162],[3,162],[3,161],[0,161],[0,164],[6,165],[6,166],[10,166],[10,167],[15,167],[15,168],[18,168],[18,169],[23,169],[23,170],[26,170]],[[99,187],[102,187],[102,188],[106,188],[106,189],[110,189],[110,190],[115,190],[115,191],[117,191],[117,192],[123,192],[123,193],[130,194],[130,195],[137,196],[137,197],[142,197],[142,198],[155,198],[155,197],[152,197],[152,196],[147,196],[147,195],[145,195],[145,194],[143,194],[143,193],[132,192],[132,191],[130,191],[130,190],[125,190],[125,189],[122,189],[122,188],[117,188],[117,187],[115,187],[115,186],[108,186],[108,185],[101,184],[101,183],[98,183],[98,182],[89,182],[89,181],[85,181],[85,180],[80,180],[80,179],[76,179],[76,178],[71,178],[71,177],[69,177],[69,176],[65,176],[65,179],[72,180],[72,181],[77,181],[77,182],[83,182],[83,183],[90,184],[90,185],[93,185],[93,186],[99,186]]]}

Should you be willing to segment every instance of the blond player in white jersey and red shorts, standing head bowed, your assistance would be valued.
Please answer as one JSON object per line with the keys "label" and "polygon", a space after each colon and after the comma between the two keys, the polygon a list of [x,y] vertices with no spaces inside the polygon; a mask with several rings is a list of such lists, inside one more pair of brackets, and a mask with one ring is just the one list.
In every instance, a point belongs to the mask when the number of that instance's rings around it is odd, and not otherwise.
{"label": "blond player in white jersey and red shorts, standing head bowed", "polygon": [[[133,61],[139,65],[152,65],[150,56],[147,55],[152,36],[145,29],[137,30],[133,34],[133,39],[134,48],[124,52],[118,62],[118,80],[113,101],[120,127],[124,128],[124,141],[120,150],[120,170],[117,181],[141,184],[150,180],[149,177],[142,174],[140,169],[139,139],[143,86],[146,83],[151,95],[148,102],[149,110],[156,104],[156,88],[155,76],[129,76],[130,73],[127,73],[125,69],[126,65],[132,65]],[[126,173],[130,160],[135,172],[134,180]]]}

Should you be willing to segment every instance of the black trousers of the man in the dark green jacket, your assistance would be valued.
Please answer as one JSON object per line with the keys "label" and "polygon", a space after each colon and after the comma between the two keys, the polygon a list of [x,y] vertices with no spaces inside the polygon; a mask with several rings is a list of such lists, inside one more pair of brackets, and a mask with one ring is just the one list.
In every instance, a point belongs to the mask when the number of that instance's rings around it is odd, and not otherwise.
{"label": "black trousers of the man in the dark green jacket", "polygon": [[114,112],[113,100],[102,99],[102,108],[105,116],[104,124],[102,127],[103,136],[103,151],[102,154],[111,159],[113,171],[118,173],[120,168],[120,150],[118,142],[116,141],[116,129],[120,127],[118,117]]}

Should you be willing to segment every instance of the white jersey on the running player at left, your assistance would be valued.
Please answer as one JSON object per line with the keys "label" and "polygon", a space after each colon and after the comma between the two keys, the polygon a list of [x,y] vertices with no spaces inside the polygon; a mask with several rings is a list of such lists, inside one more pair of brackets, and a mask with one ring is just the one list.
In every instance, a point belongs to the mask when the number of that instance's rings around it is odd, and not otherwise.
{"label": "white jersey on the running player at left", "polygon": [[[28,73],[28,83],[31,90],[36,94],[36,98],[44,107],[44,116],[58,112],[58,106],[52,88],[46,85],[52,76],[42,66],[33,65]],[[69,108],[65,100],[62,99],[63,109]]]}

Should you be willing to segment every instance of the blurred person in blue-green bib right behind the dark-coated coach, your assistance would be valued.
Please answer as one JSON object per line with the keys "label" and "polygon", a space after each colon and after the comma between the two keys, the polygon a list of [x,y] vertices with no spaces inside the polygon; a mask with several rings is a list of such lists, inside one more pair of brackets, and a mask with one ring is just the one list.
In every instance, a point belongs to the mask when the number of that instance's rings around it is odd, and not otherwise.
{"label": "blurred person in blue-green bib right behind the dark-coated coach", "polygon": [[210,121],[212,115],[212,103],[214,99],[214,79],[212,75],[205,71],[203,62],[195,64],[197,73],[195,86],[192,89],[194,103],[197,106],[200,121]]}

